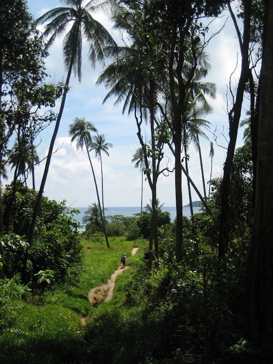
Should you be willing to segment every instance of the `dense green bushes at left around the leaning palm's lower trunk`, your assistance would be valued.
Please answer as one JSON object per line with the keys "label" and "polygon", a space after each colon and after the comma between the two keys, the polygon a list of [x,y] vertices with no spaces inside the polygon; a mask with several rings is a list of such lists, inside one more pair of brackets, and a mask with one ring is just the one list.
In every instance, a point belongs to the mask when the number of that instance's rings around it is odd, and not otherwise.
{"label": "dense green bushes at left around the leaning palm's lower trunk", "polygon": [[[10,231],[5,238],[3,273],[10,278],[18,272],[24,283],[31,283],[35,273],[47,269],[56,272],[57,282],[74,279],[81,264],[82,244],[78,223],[73,219],[77,211],[69,211],[65,201],[57,203],[42,197],[32,245],[27,247],[19,238],[28,232],[36,193],[21,185],[17,186],[15,199],[10,188],[3,193],[3,223]],[[34,281],[32,284],[36,285]]]}

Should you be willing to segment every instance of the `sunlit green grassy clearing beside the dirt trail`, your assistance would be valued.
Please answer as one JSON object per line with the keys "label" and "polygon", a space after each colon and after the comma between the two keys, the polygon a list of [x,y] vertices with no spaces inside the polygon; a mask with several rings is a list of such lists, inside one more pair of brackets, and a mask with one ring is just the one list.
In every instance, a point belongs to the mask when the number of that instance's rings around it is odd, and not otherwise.
{"label": "sunlit green grassy clearing beside the dirt trail", "polygon": [[[86,241],[83,271],[75,284],[54,287],[42,300],[33,300],[19,316],[25,303],[16,298],[14,323],[0,336],[0,363],[84,363],[87,348],[83,318],[88,327],[94,323],[96,315],[121,301],[130,273],[118,277],[116,295],[109,303],[94,308],[88,301],[88,292],[106,283],[120,266],[123,251],[130,257],[134,246],[134,242],[123,238],[110,239],[109,249]],[[134,261],[135,256],[130,259],[130,265],[134,265]]]}

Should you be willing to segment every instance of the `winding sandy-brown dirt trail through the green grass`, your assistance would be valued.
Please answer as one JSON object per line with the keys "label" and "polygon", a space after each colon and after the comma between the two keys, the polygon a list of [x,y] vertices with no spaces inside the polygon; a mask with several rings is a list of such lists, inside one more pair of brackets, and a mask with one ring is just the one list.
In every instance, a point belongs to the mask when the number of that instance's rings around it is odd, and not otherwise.
{"label": "winding sandy-brown dirt trail through the green grass", "polygon": [[[132,255],[135,255],[137,250],[138,250],[138,248],[133,248]],[[107,283],[105,283],[99,287],[93,288],[88,293],[88,299],[92,303],[93,306],[96,306],[99,302],[101,302],[101,300],[103,299],[103,297],[105,295],[107,295],[107,296],[104,299],[104,302],[110,301],[113,298],[113,292],[114,292],[115,281],[116,281],[117,276],[129,268],[131,268],[131,267],[128,265],[126,265],[125,268],[119,267],[115,271],[115,273],[112,274],[111,278],[108,280]]]}

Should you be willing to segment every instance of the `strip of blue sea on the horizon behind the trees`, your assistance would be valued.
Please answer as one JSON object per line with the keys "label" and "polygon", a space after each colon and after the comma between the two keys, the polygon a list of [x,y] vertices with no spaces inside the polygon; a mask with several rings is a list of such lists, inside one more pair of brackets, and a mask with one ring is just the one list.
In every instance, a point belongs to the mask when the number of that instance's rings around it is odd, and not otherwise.
{"label": "strip of blue sea on the horizon behind the trees", "polygon": [[[74,218],[80,224],[83,222],[83,216],[88,207],[74,207],[80,211],[79,214],[75,215]],[[142,211],[145,211],[142,207]],[[162,206],[161,211],[168,211],[170,213],[171,221],[173,221],[176,217],[176,208],[174,206],[167,207]],[[199,212],[199,207],[193,207],[193,212]],[[105,208],[105,216],[114,216],[114,215],[123,215],[123,216],[134,216],[136,213],[140,212],[140,207],[107,207]],[[190,217],[190,207],[183,207],[183,216]]]}

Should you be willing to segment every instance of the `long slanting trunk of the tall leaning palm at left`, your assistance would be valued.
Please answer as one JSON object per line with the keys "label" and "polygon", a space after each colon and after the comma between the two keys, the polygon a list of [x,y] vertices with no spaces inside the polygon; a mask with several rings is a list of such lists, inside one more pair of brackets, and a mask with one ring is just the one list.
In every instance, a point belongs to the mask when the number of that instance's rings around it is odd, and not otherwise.
{"label": "long slanting trunk of the tall leaning palm at left", "polygon": [[54,143],[55,143],[55,140],[56,140],[56,137],[57,137],[61,117],[62,117],[63,110],[64,110],[65,99],[66,99],[66,95],[67,95],[67,92],[68,92],[69,80],[70,80],[71,71],[72,71],[72,65],[73,65],[73,62],[71,61],[70,65],[69,65],[68,73],[67,73],[67,78],[66,78],[66,81],[65,81],[65,88],[64,88],[64,93],[63,93],[63,97],[62,97],[62,102],[61,102],[59,114],[58,114],[58,117],[57,117],[57,120],[56,120],[55,129],[54,129],[54,132],[53,132],[53,135],[52,135],[52,138],[51,138],[51,142],[50,142],[50,146],[49,146],[49,150],[48,150],[48,154],[47,154],[47,158],[46,158],[43,178],[42,178],[42,181],[41,181],[40,189],[39,189],[37,199],[36,199],[36,202],[35,202],[35,206],[34,206],[34,209],[33,209],[32,221],[31,221],[31,225],[30,225],[30,228],[29,228],[29,232],[28,232],[28,243],[30,245],[32,244],[33,235],[34,235],[34,228],[35,228],[37,216],[38,216],[40,205],[41,205],[41,199],[42,199],[42,194],[43,194],[46,178],[47,178],[48,171],[49,171],[49,165],[50,165],[51,156],[52,156],[52,153],[53,153],[53,147],[54,147]]}

